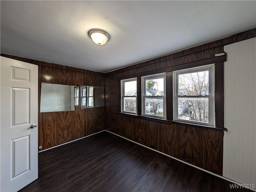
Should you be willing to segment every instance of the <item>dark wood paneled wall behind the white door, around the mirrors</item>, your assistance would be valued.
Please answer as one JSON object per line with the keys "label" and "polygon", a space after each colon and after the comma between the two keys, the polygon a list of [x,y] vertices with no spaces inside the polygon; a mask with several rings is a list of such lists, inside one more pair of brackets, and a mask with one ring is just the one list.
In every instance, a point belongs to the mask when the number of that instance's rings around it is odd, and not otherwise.
{"label": "dark wood paneled wall behind the white door, around the mirrors", "polygon": [[104,87],[104,73],[2,53],[1,56],[39,65],[38,146],[42,146],[40,150],[67,143],[105,129],[105,107],[81,109],[79,106],[78,111],[39,113],[42,82]]}

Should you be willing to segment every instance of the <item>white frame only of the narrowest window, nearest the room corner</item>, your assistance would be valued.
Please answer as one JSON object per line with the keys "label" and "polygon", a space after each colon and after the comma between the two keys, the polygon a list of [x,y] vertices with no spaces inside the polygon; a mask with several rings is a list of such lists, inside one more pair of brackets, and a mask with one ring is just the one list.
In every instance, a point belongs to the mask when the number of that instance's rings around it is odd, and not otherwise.
{"label": "white frame only of the narrowest window, nearest the room corner", "polygon": [[[130,82],[130,81],[136,81],[136,96],[125,96],[124,95],[124,85],[126,82]],[[134,78],[129,78],[129,79],[121,79],[121,113],[130,113],[130,114],[134,114],[137,115],[138,114],[138,87],[137,87],[137,77]],[[135,97],[136,98],[136,112],[132,112],[132,111],[125,111],[124,110],[124,98],[125,97]]]}

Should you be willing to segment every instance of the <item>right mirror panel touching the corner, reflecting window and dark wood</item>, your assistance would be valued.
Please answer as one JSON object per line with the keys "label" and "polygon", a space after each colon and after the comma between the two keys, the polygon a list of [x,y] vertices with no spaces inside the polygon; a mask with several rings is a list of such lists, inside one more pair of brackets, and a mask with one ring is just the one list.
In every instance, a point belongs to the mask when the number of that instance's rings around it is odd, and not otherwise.
{"label": "right mirror panel touching the corner, reflecting window and dark wood", "polygon": [[104,87],[81,86],[81,108],[105,106]]}

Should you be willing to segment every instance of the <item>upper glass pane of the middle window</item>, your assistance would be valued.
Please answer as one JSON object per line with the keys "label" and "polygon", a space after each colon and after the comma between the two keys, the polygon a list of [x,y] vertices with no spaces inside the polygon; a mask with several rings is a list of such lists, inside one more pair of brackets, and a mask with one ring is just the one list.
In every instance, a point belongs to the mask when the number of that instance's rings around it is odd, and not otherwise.
{"label": "upper glass pane of the middle window", "polygon": [[146,96],[164,95],[164,78],[146,79]]}

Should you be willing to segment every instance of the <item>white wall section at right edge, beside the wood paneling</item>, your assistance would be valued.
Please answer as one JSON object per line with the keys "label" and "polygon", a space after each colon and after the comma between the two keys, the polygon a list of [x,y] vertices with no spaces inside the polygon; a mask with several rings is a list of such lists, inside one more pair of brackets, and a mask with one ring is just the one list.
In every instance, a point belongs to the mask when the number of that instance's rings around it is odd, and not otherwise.
{"label": "white wall section at right edge, beside the wood paneling", "polygon": [[224,51],[223,176],[256,185],[256,38]]}

